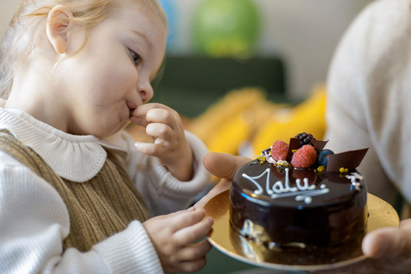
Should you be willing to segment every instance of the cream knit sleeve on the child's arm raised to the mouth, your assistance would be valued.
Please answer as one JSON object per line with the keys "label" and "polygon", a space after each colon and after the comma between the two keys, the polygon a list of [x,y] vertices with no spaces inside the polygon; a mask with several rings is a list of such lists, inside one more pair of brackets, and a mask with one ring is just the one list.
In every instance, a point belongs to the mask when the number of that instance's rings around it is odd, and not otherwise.
{"label": "cream knit sleeve on the child's arm raised to the mouth", "polygon": [[210,173],[203,165],[203,158],[208,153],[204,143],[190,132],[185,132],[186,140],[193,155],[193,177],[188,182],[176,179],[160,163],[158,158],[145,155],[134,147],[130,134],[121,131],[106,139],[103,144],[118,151],[129,171],[136,188],[145,197],[145,202],[152,215],[162,215],[186,208],[192,198],[199,195],[210,184]]}

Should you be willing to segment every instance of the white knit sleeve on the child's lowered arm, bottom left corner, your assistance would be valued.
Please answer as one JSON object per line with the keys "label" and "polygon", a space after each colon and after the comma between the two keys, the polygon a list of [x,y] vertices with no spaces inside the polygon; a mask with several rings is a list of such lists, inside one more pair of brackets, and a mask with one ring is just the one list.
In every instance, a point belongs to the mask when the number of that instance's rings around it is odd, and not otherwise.
{"label": "white knit sleeve on the child's lowered arm, bottom left corner", "polygon": [[162,273],[138,221],[86,253],[63,251],[70,221],[60,195],[3,152],[0,201],[0,273]]}

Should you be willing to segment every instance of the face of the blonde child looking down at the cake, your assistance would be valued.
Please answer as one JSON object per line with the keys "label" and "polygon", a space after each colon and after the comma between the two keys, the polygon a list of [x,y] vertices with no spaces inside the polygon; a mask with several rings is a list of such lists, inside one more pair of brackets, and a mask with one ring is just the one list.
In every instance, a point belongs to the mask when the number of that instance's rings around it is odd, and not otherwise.
{"label": "face of the blonde child looking down at the cake", "polygon": [[69,92],[68,132],[104,137],[124,127],[130,110],[153,97],[165,47],[162,21],[143,4],[127,1],[97,25],[86,47],[58,66]]}

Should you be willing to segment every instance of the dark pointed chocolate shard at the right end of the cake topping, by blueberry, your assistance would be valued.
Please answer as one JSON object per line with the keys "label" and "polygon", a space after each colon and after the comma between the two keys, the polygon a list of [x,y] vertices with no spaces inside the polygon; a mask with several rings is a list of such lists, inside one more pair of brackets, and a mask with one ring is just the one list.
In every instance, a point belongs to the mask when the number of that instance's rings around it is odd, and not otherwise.
{"label": "dark pointed chocolate shard at the right end of the cake topping, by blueberry", "polygon": [[341,167],[348,170],[356,169],[361,164],[366,151],[368,148],[327,155],[328,161],[325,171],[340,172]]}

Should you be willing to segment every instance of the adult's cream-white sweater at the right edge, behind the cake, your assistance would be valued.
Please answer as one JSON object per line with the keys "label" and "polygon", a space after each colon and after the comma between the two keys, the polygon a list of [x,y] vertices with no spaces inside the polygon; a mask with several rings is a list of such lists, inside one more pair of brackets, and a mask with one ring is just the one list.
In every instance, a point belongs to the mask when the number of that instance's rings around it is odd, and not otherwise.
{"label": "adult's cream-white sweater at the right edge, behind the cake", "polygon": [[340,42],[329,69],[327,147],[369,147],[360,171],[369,192],[411,202],[411,10],[409,0],[371,3]]}

